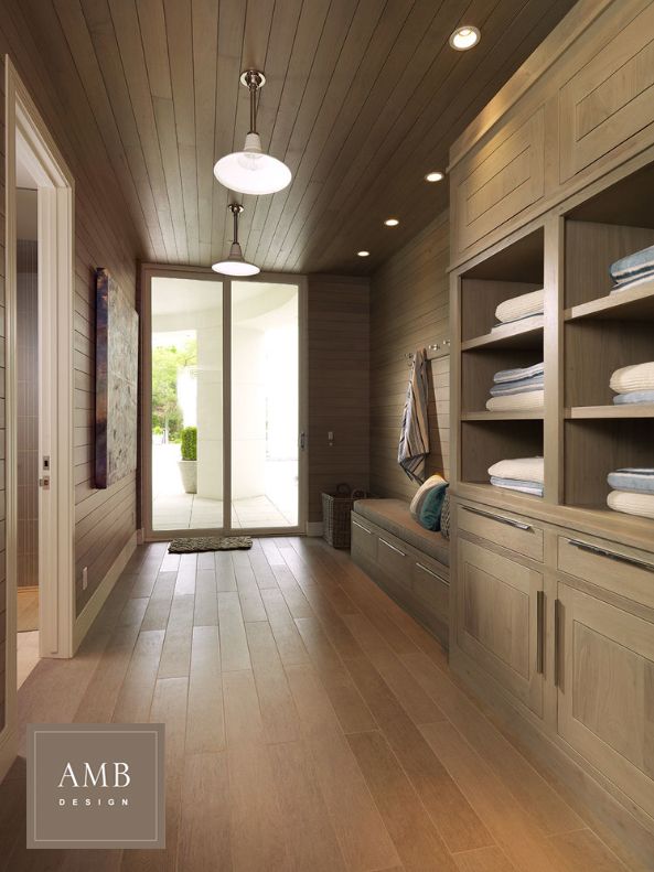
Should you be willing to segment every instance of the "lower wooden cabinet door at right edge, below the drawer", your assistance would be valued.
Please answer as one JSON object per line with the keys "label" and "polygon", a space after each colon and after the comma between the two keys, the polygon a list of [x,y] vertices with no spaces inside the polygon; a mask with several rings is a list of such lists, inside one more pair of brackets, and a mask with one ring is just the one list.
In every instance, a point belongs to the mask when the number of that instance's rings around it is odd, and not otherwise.
{"label": "lower wooden cabinet door at right edge, below the drawer", "polygon": [[560,735],[654,816],[654,624],[559,584]]}

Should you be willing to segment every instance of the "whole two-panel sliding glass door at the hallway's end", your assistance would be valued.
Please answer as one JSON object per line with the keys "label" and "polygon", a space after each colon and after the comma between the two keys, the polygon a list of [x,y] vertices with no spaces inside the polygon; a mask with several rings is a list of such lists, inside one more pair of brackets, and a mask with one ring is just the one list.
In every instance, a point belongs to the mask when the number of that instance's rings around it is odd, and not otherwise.
{"label": "whole two-panel sliding glass door at the hallway's end", "polygon": [[141,287],[147,535],[301,530],[300,281],[148,266]]}

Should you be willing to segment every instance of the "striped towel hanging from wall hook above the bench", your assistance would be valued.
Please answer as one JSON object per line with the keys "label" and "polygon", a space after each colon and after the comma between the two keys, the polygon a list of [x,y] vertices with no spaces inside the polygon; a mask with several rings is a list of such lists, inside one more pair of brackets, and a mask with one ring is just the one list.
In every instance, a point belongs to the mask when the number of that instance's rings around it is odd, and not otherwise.
{"label": "striped towel hanging from wall hook above the bench", "polygon": [[419,349],[414,354],[397,452],[397,462],[418,484],[425,482],[425,460],[429,454],[428,384],[427,355]]}

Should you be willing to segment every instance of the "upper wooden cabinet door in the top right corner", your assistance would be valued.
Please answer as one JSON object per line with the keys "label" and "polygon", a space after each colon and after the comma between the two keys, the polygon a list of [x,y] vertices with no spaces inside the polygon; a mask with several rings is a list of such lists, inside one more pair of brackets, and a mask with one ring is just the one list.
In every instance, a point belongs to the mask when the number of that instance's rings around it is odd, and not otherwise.
{"label": "upper wooden cabinet door in the top right corner", "polygon": [[652,33],[654,7],[648,4],[561,88],[561,182],[654,121]]}

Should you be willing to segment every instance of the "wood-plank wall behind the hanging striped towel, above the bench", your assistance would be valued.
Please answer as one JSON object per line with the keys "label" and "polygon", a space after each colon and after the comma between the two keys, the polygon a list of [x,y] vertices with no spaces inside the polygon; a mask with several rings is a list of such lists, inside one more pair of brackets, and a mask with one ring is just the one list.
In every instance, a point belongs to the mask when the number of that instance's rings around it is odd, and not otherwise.
{"label": "wood-plank wall behind the hanging striped towel, above the bench", "polygon": [[[410,499],[416,486],[397,464],[409,366],[405,355],[448,336],[449,224],[440,215],[394,255],[371,283],[371,487]],[[428,473],[449,474],[449,355],[429,367]]]}

